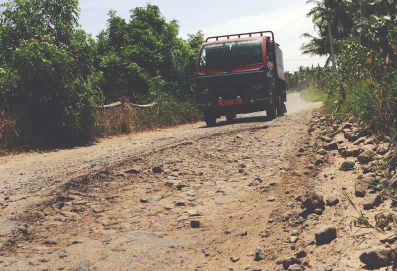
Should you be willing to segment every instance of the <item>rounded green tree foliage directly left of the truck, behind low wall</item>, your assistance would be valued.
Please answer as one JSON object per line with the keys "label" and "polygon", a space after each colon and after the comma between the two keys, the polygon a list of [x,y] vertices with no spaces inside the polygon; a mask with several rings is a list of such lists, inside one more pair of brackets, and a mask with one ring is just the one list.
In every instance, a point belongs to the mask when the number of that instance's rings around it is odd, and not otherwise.
{"label": "rounded green tree foliage directly left of the truck, behind low wall", "polygon": [[106,99],[125,95],[140,102],[160,92],[181,100],[192,95],[195,57],[203,35],[198,32],[186,41],[178,32],[177,21],[167,22],[155,5],[132,9],[128,22],[110,11],[107,28],[97,36]]}

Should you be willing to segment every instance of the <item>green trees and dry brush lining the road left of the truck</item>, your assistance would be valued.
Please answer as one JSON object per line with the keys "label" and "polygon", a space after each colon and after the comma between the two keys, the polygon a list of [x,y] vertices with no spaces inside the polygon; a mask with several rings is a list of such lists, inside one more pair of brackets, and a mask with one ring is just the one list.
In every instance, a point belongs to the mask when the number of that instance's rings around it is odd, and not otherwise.
{"label": "green trees and dry brush lining the road left of the truck", "polygon": [[[202,32],[178,37],[178,22],[151,4],[131,9],[127,20],[110,10],[96,39],[78,17],[78,0],[0,4],[0,148],[75,144],[132,124],[201,118],[193,89]],[[106,125],[99,109],[122,96],[156,106]]]}

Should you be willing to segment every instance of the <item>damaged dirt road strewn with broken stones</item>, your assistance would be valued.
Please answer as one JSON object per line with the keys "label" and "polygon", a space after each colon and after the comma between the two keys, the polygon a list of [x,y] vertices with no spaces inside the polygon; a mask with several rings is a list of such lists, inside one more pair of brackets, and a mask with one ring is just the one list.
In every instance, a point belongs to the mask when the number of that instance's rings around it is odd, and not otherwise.
{"label": "damaged dirt road strewn with broken stones", "polygon": [[320,103],[288,100],[288,115],[272,121],[241,115],[2,158],[0,269],[357,270],[348,241],[314,251],[314,233],[301,233],[336,223],[350,236],[333,216],[346,203],[307,221],[293,215],[320,172],[306,166],[314,154],[296,157],[312,144]]}

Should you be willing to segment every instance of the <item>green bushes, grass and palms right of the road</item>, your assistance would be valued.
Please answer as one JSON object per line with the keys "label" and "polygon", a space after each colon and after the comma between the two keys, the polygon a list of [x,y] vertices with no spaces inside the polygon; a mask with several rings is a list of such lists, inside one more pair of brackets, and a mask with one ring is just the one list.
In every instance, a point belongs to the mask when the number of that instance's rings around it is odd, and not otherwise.
{"label": "green bushes, grass and palms right of the road", "polygon": [[[326,19],[329,15],[335,55],[333,58],[329,56],[326,67],[321,68],[325,71],[325,83],[322,86],[317,86],[316,78],[312,75],[306,76],[304,82],[312,82],[320,93],[324,93],[325,113],[338,120],[349,119],[359,123],[372,132],[376,142],[388,143],[389,152],[378,168],[382,177],[374,189],[383,190],[385,196],[395,202],[397,189],[390,185],[397,167],[397,2],[307,2],[316,4],[307,16],[312,18],[317,36],[303,34],[309,38],[302,45],[303,53],[330,55]],[[331,62],[334,68],[328,67]],[[345,197],[356,208],[350,196],[345,194]],[[397,218],[393,210],[394,207],[390,207],[389,212],[381,212],[377,217],[385,217],[395,225]],[[379,230],[383,228],[377,222],[372,225],[362,212],[358,213],[352,225]]]}

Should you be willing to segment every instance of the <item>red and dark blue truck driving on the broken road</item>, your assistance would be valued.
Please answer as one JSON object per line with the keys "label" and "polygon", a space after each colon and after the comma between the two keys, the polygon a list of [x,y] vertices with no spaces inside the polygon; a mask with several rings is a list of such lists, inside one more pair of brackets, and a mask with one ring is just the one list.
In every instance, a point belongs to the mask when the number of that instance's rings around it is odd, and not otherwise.
{"label": "red and dark blue truck driving on the broken road", "polygon": [[196,106],[207,126],[226,116],[266,111],[284,115],[286,84],[280,45],[272,31],[208,37],[196,65]]}

